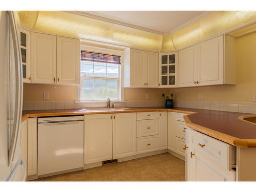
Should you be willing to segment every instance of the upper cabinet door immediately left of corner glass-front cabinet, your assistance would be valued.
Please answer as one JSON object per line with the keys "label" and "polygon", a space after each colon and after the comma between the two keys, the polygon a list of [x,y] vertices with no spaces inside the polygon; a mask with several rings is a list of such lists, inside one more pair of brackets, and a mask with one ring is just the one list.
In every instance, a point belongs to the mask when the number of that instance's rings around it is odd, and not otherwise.
{"label": "upper cabinet door immediately left of corner glass-front cabinet", "polygon": [[146,52],[146,87],[158,87],[158,53]]}

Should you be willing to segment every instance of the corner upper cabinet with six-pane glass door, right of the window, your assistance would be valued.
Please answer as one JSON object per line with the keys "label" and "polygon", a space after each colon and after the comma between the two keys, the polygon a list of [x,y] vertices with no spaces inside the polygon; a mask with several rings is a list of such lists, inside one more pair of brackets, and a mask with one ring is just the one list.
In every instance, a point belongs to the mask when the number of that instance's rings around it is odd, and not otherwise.
{"label": "corner upper cabinet with six-pane glass door, right of the window", "polygon": [[178,87],[178,52],[159,54],[159,87]]}

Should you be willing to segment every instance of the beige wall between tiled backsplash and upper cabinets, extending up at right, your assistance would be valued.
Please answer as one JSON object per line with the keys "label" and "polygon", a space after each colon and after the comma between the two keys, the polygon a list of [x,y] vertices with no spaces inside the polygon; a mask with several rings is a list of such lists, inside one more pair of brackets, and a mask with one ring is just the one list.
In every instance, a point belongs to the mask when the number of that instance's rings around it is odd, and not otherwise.
{"label": "beige wall between tiled backsplash and upper cabinets, extending up at right", "polygon": [[[256,93],[256,33],[237,39],[237,66],[234,86],[207,86],[194,88],[169,89],[176,100],[198,100],[202,94],[204,101],[252,102],[252,93]],[[49,101],[76,100],[75,86],[52,86],[24,84],[24,101],[42,101],[43,92],[49,92]],[[161,100],[161,94],[168,89],[125,88],[124,100]]]}

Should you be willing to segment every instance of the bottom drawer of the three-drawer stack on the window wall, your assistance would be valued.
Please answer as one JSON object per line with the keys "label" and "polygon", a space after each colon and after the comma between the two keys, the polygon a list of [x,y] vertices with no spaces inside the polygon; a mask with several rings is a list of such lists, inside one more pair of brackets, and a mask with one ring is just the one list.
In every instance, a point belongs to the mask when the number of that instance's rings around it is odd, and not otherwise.
{"label": "bottom drawer of the three-drawer stack on the window wall", "polygon": [[137,154],[157,151],[159,146],[158,136],[137,138]]}

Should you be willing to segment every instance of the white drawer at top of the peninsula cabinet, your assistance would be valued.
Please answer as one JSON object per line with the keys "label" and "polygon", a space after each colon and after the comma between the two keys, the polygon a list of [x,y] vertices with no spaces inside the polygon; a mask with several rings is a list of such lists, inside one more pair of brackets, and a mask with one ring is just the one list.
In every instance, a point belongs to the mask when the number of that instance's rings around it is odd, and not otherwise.
{"label": "white drawer at top of the peninsula cabinet", "polygon": [[220,166],[231,170],[233,147],[218,139],[189,129],[189,144],[199,153],[216,162]]}

